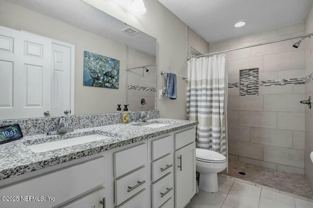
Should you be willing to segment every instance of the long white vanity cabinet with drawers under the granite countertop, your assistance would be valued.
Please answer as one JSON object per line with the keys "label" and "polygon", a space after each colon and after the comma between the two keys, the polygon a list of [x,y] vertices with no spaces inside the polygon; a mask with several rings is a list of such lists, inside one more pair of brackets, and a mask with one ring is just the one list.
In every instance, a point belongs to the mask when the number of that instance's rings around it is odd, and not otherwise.
{"label": "long white vanity cabinet with drawers under the granite countertop", "polygon": [[0,208],[183,208],[196,191],[195,150],[195,128],[182,129],[5,179],[1,196],[45,202]]}

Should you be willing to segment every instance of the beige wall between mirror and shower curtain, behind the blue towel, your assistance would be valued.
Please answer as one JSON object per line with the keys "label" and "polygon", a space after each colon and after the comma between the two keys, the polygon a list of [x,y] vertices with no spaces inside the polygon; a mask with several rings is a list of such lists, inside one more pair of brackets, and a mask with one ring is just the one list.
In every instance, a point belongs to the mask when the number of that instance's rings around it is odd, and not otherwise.
{"label": "beige wall between mirror and shower curtain, behind the blue towel", "polygon": [[[186,74],[186,25],[157,0],[145,0],[144,3],[147,13],[142,16],[134,16],[109,0],[102,4],[102,10],[157,39],[157,89],[161,89],[166,86],[166,76],[161,76],[160,71]],[[177,84],[176,100],[157,98],[162,118],[186,118],[186,81],[178,78]]]}

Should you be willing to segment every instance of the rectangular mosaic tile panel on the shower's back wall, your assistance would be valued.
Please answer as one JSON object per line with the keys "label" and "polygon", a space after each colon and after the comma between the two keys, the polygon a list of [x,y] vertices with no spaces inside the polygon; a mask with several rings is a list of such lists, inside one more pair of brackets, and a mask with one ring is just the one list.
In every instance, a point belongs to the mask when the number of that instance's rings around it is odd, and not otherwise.
{"label": "rectangular mosaic tile panel on the shower's back wall", "polygon": [[259,95],[259,68],[240,70],[240,95]]}

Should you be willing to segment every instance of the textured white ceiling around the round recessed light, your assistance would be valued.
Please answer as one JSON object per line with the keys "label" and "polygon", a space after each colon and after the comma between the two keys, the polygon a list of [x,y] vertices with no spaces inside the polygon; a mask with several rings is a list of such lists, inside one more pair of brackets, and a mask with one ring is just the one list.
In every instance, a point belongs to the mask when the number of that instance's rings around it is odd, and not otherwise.
{"label": "textured white ceiling around the round recessed light", "polygon": [[[158,0],[208,42],[305,20],[312,0]],[[246,21],[246,26],[234,24]]]}

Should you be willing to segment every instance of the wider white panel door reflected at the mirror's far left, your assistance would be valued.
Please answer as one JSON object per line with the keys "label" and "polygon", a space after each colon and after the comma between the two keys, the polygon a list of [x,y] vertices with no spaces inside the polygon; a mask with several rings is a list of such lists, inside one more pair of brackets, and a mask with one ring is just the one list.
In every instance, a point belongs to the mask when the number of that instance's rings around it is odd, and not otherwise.
{"label": "wider white panel door reflected at the mirror's far left", "polygon": [[0,26],[0,96],[0,120],[50,111],[51,39]]}

